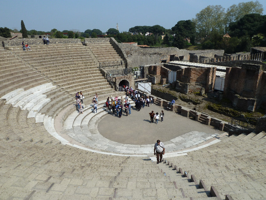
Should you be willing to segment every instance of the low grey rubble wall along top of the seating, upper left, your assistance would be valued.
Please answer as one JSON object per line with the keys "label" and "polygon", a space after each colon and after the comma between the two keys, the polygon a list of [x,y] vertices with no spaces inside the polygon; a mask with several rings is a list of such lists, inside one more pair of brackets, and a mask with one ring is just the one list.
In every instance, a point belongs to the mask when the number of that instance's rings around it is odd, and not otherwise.
{"label": "low grey rubble wall along top of the seating, upper left", "polygon": [[[22,41],[24,41],[24,44],[29,45],[43,45],[43,40],[38,38],[22,38],[22,39],[16,39],[16,40],[7,40],[4,41],[5,48],[11,47],[11,46],[21,46]],[[54,44],[76,44],[81,43],[80,39],[50,39],[49,42],[51,45]]]}

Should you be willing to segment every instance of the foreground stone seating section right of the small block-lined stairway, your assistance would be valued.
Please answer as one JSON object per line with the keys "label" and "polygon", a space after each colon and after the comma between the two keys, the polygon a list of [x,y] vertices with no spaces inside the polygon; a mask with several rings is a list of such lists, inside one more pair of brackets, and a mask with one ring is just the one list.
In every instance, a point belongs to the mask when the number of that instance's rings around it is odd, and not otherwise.
{"label": "foreground stone seating section right of the small block-lined stairway", "polygon": [[[196,182],[205,183],[207,191],[215,187],[221,199],[226,194],[233,199],[263,199],[266,168],[261,166],[266,161],[265,142],[265,132],[225,136],[222,142],[184,157],[167,158],[167,163],[193,174]],[[249,190],[253,190],[253,195]]]}

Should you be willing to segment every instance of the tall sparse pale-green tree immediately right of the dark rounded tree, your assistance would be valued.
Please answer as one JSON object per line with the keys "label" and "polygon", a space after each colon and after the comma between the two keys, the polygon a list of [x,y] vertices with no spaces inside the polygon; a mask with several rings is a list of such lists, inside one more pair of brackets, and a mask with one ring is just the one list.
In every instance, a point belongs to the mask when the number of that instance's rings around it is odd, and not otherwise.
{"label": "tall sparse pale-green tree immediately right of the dark rounded tree", "polygon": [[195,22],[200,36],[208,39],[213,29],[217,29],[220,33],[224,32],[224,16],[224,8],[221,5],[207,6],[197,13],[196,18],[192,21]]}

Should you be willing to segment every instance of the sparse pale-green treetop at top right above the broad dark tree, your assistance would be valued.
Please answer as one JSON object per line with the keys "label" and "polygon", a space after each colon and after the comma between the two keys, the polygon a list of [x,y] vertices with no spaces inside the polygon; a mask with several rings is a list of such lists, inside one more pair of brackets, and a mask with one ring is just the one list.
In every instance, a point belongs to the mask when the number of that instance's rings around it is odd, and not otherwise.
{"label": "sparse pale-green treetop at top right above the broad dark tree", "polygon": [[232,22],[238,21],[240,18],[243,18],[247,14],[262,14],[263,7],[262,4],[258,1],[249,1],[238,3],[238,5],[233,4],[229,8],[227,8],[226,19],[227,25]]}

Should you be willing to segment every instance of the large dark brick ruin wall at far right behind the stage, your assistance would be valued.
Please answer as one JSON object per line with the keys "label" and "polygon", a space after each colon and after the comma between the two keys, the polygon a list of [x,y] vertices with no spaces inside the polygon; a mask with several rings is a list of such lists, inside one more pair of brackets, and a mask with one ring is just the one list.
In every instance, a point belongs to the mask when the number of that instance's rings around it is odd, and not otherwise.
{"label": "large dark brick ruin wall at far right behind the stage", "polygon": [[265,108],[266,72],[262,65],[243,64],[226,68],[223,96],[234,106],[249,111]]}

